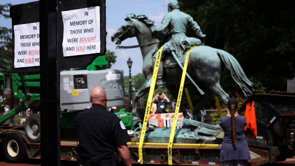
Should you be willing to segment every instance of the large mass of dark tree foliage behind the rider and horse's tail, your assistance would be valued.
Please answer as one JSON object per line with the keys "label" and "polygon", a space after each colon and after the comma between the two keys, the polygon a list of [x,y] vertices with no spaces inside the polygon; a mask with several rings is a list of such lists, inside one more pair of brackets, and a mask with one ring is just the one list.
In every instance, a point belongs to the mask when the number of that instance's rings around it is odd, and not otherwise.
{"label": "large mass of dark tree foliage behind the rider and horse's tail", "polygon": [[[265,86],[262,91],[286,91],[295,73],[295,1],[179,0],[179,5],[207,35],[206,45],[231,53],[251,81]],[[228,70],[221,85],[240,92]]]}

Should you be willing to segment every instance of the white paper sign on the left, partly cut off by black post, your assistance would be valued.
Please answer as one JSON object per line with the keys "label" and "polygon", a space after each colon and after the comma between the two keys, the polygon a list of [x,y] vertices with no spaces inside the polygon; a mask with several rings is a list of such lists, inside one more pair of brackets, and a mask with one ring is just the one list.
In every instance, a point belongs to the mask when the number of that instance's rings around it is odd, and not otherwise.
{"label": "white paper sign on the left, partly cut off by black post", "polygon": [[14,26],[14,68],[40,66],[39,22]]}

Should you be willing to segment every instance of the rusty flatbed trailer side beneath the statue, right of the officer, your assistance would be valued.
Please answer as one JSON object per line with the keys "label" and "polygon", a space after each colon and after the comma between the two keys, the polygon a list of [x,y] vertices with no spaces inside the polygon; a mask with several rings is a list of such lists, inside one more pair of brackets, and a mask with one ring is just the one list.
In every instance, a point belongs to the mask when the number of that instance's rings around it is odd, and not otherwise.
{"label": "rusty flatbed trailer side beneath the statue, right of the officer", "polygon": [[[128,147],[132,154],[132,163],[137,163],[138,144],[129,143]],[[168,164],[167,145],[144,144],[144,164]],[[219,155],[221,144],[218,146],[201,146],[196,153],[199,144],[176,144],[173,145],[172,160],[176,165],[220,165]],[[258,166],[269,163],[268,151],[257,148],[249,148],[251,160],[248,165]]]}

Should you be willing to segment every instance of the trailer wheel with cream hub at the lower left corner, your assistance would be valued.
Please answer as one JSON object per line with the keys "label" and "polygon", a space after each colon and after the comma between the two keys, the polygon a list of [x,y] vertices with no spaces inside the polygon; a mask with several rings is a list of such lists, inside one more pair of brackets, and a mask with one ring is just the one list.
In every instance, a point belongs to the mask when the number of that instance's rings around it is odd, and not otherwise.
{"label": "trailer wheel with cream hub at the lower left corner", "polygon": [[26,154],[25,145],[22,140],[22,133],[11,132],[4,137],[3,152],[7,160],[19,163]]}

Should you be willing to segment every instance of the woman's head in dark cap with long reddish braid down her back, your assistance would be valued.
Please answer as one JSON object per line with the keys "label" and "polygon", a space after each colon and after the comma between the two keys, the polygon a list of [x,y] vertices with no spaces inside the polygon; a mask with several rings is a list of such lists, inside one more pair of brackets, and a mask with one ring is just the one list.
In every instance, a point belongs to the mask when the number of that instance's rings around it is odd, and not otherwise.
{"label": "woman's head in dark cap with long reddish braid down her back", "polygon": [[227,108],[230,111],[230,117],[231,117],[231,128],[232,128],[232,133],[233,133],[233,141],[234,144],[236,144],[238,142],[238,140],[236,140],[236,119],[235,119],[235,113],[237,112],[238,109],[238,101],[235,98],[230,98],[227,101]]}

